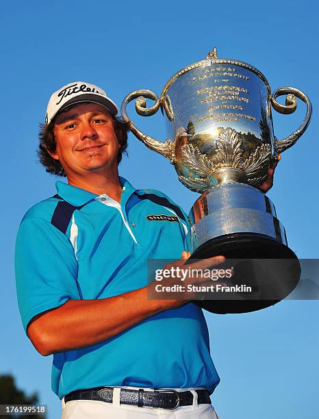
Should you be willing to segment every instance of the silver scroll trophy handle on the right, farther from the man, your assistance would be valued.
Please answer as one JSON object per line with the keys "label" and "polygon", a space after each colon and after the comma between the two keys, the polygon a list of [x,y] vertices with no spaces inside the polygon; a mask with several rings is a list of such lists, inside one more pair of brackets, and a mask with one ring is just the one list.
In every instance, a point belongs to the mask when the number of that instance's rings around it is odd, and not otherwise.
{"label": "silver scroll trophy handle on the right, farther from the man", "polygon": [[[276,101],[277,97],[282,96],[283,94],[287,94],[285,105],[281,105]],[[305,104],[307,105],[307,114],[301,126],[298,127],[298,129],[294,131],[292,134],[290,134],[290,136],[283,138],[283,140],[277,140],[277,138],[275,139],[275,152],[278,154],[283,153],[283,151],[292,147],[294,143],[298,140],[298,138],[300,138],[303,135],[310,122],[312,106],[305,93],[301,92],[301,90],[298,90],[296,88],[279,88],[275,90],[275,92],[273,92],[272,94],[272,106],[275,110],[277,110],[277,112],[280,112],[281,114],[292,114],[292,112],[296,110],[297,101],[295,96],[301,99],[303,102],[305,102]]]}

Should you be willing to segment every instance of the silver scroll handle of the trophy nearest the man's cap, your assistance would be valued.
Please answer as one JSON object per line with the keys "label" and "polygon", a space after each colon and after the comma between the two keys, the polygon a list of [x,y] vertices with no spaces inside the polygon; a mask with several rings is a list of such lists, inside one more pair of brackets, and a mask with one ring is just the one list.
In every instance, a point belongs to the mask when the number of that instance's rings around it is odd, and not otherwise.
{"label": "silver scroll handle of the trophy nearest the man's cap", "polygon": [[[152,99],[155,101],[155,105],[152,107],[146,107],[146,99]],[[126,107],[127,104],[133,99],[136,99],[136,112],[141,116],[151,116],[159,110],[160,100],[157,97],[157,94],[152,92],[151,90],[134,90],[133,92],[127,94],[127,97],[123,99],[122,105],[120,107],[120,112],[122,114],[122,118],[125,123],[129,126],[130,131],[138,138],[138,140],[144,142],[144,144],[149,147],[149,149],[156,151],[159,154],[164,155],[168,160],[170,160],[170,163],[173,164],[174,162],[174,148],[172,142],[169,140],[169,138],[165,142],[161,142],[158,140],[155,140],[155,138],[152,138],[151,136],[146,136],[144,132],[140,131],[138,127],[136,127],[132,121],[129,119],[129,116],[127,116]]]}

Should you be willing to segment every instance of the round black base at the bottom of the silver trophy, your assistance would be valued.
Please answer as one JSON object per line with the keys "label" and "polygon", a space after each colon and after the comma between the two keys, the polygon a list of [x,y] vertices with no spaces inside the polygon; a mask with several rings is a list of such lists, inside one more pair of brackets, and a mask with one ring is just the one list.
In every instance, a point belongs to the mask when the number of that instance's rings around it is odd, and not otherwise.
{"label": "round black base at the bottom of the silver trophy", "polygon": [[301,265],[295,253],[264,234],[232,233],[213,238],[199,246],[188,263],[214,255],[225,256],[220,268],[232,268],[234,272],[230,279],[220,279],[220,282],[230,289],[242,285],[242,291],[203,294],[203,300],[194,304],[208,312],[248,313],[275,305],[294,290],[301,277]]}

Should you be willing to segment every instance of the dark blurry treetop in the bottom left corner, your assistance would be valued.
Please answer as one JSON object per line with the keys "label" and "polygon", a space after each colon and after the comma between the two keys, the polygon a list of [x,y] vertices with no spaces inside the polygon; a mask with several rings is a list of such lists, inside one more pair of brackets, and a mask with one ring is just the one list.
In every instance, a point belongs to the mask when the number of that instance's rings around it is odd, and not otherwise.
{"label": "dark blurry treetop in the bottom left corner", "polygon": [[[38,394],[33,393],[27,396],[23,390],[16,387],[14,377],[11,374],[0,375],[0,404],[1,405],[36,405],[38,403]],[[5,418],[12,419],[45,419],[42,415],[10,415]]]}

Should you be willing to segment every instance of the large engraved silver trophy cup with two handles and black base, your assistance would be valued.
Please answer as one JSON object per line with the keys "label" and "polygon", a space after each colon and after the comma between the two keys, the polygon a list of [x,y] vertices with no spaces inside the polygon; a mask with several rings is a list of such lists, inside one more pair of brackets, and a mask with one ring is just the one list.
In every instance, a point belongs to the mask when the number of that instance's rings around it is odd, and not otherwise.
{"label": "large engraved silver trophy cup with two handles and black base", "polygon": [[[286,95],[285,105],[276,100],[282,95]],[[296,110],[296,97],[307,105],[305,120],[293,134],[278,140],[271,105],[281,114],[291,114]],[[126,108],[133,99],[142,116],[161,108],[168,134],[165,142],[147,136],[129,119]],[[155,105],[146,107],[146,99],[153,99]],[[205,60],[173,75],[160,98],[151,90],[128,94],[121,112],[132,133],[149,149],[167,157],[179,181],[201,194],[190,211],[191,258],[221,254],[238,259],[242,264],[238,271],[244,274],[242,279],[234,275],[233,284],[249,281],[255,290],[248,298],[235,293],[233,298],[212,301],[208,296],[197,303],[216,313],[251,312],[290,294],[300,279],[300,264],[288,247],[275,206],[257,188],[277,155],[292,147],[307,129],[311,118],[307,96],[291,87],[271,94],[266,77],[257,68],[217,58],[214,48]],[[252,259],[265,259],[268,264],[256,267]]]}

